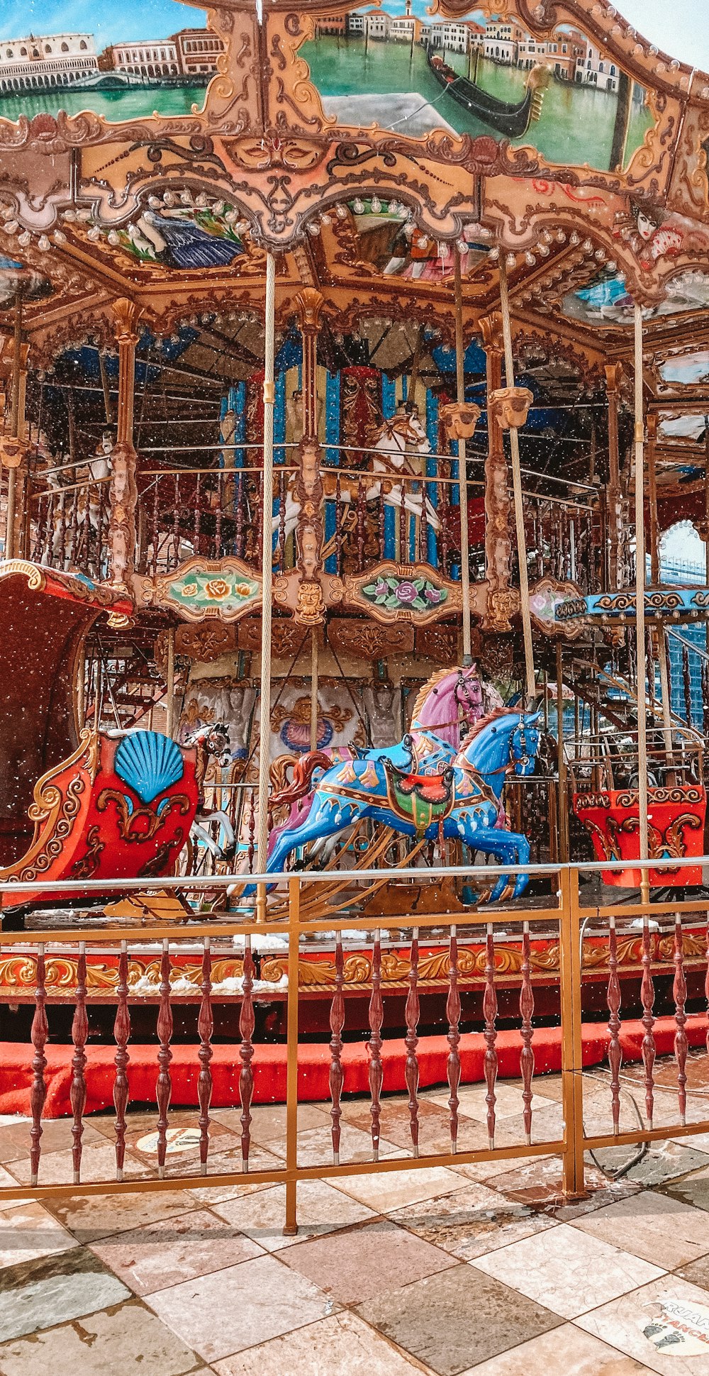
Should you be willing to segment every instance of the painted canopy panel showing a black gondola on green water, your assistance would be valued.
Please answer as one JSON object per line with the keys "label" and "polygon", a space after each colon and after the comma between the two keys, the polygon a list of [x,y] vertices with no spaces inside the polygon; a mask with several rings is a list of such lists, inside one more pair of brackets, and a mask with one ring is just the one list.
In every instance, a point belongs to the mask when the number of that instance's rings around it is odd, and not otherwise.
{"label": "painted canopy panel showing a black gondola on green water", "polygon": [[571,25],[541,41],[511,14],[445,19],[406,0],[317,19],[300,56],[326,114],[412,138],[493,135],[614,171],[654,124],[646,89]]}

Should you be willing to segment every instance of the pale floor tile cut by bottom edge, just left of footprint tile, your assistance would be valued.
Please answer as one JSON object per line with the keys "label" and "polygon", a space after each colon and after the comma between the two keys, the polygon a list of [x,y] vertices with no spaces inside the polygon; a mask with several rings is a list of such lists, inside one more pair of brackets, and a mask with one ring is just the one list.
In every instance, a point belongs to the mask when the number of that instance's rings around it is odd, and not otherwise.
{"label": "pale floor tile cut by bottom edge, just left of footprint tile", "polygon": [[464,1376],[651,1376],[632,1357],[624,1357],[575,1324],[562,1324],[541,1337],[514,1347],[471,1368]]}

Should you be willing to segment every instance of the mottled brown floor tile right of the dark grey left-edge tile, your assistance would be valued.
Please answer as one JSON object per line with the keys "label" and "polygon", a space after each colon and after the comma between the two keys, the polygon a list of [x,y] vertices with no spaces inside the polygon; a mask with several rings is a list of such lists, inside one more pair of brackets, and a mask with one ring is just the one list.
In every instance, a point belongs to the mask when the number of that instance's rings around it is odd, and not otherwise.
{"label": "mottled brown floor tile right of the dark grey left-edge tile", "polygon": [[94,1243],[92,1251],[131,1287],[134,1295],[150,1295],[193,1276],[205,1276],[263,1255],[251,1237],[237,1233],[208,1210],[120,1233]]}

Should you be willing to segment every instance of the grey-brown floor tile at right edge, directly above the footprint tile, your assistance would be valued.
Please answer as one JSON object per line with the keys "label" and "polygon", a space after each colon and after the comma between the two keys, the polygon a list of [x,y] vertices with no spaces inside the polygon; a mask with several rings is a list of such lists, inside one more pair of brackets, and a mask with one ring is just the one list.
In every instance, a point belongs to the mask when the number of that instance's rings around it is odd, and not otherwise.
{"label": "grey-brown floor tile at right edge, directly above the footprint tile", "polygon": [[668,1271],[709,1252],[703,1211],[658,1190],[642,1190],[609,1204],[577,1219],[574,1226],[604,1243],[621,1243],[625,1251],[646,1262],[661,1260]]}

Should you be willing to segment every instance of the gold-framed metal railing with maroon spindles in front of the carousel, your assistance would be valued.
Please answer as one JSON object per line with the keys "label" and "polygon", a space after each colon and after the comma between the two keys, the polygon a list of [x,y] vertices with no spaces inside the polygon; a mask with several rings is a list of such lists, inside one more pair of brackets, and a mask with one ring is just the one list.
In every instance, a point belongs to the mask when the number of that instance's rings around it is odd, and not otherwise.
{"label": "gold-framed metal railing with maroon spindles in front of the carousel", "polygon": [[[661,868],[664,864],[681,868],[684,864],[681,860],[650,863],[653,868]],[[698,861],[687,863],[697,866]],[[709,864],[709,857],[699,863]],[[642,868],[642,863],[633,864]],[[527,867],[527,871],[520,867],[507,868],[507,874],[529,872],[530,878],[537,881],[552,879],[551,897],[538,900],[537,907],[533,901],[522,900],[507,900],[491,907],[456,903],[450,888],[453,879],[461,881],[471,890],[489,888],[490,879],[501,872],[497,867],[434,870],[409,867],[388,870],[384,874],[377,870],[361,870],[351,877],[341,871],[281,875],[275,877],[282,896],[281,907],[268,922],[257,922],[252,912],[244,910],[241,914],[222,914],[219,919],[208,919],[198,911],[201,890],[234,889],[234,886],[240,890],[244,877],[238,875],[212,877],[204,881],[180,878],[147,882],[116,881],[113,885],[106,881],[81,881],[73,885],[62,882],[59,885],[62,894],[70,890],[77,899],[85,899],[91,892],[106,894],[107,889],[113,889],[124,896],[135,892],[147,893],[146,903],[150,903],[150,894],[182,892],[183,899],[191,894],[194,910],[184,908],[182,921],[186,926],[176,926],[175,921],[168,922],[160,915],[149,919],[146,912],[143,919],[138,914],[132,923],[114,918],[114,925],[106,927],[99,926],[95,918],[92,921],[88,912],[85,925],[65,918],[66,925],[62,926],[58,925],[55,915],[54,926],[48,916],[34,919],[36,923],[44,922],[44,930],[3,932],[1,954],[6,969],[3,1002],[18,1003],[21,998],[17,971],[14,984],[11,974],[7,974],[8,960],[22,963],[25,970],[29,969],[34,988],[30,992],[25,978],[23,996],[33,1004],[30,1047],[23,1062],[32,1079],[26,1182],[3,1185],[0,1198],[176,1189],[190,1185],[238,1185],[248,1176],[251,1183],[285,1185],[285,1232],[295,1233],[297,1186],[304,1181],[558,1154],[562,1189],[573,1196],[584,1193],[586,1150],[709,1131],[709,1113],[706,1116],[699,1113],[698,1121],[688,1121],[687,1109],[690,1047],[701,1046],[703,1050],[706,1039],[703,1009],[709,903],[702,899],[607,904],[603,901],[603,894],[592,896],[589,900],[585,893],[580,893],[580,881],[584,883],[593,881],[600,868],[617,867],[566,864],[533,866]],[[273,875],[267,878],[270,883],[274,882]],[[340,885],[336,893],[332,892],[333,879]],[[6,901],[12,897],[21,903],[23,893],[29,890],[36,893],[39,888],[36,881],[6,885]],[[58,886],[43,888],[50,899],[51,890]],[[346,901],[341,901],[343,893]],[[240,901],[238,892],[233,893],[231,904]],[[456,907],[457,911],[450,911]],[[308,982],[303,976],[306,958],[314,958],[318,944],[325,945],[328,955],[326,978]],[[233,962],[241,962],[241,976],[224,978],[220,962],[227,959],[227,954]],[[91,980],[95,956],[100,958],[98,984],[96,980],[94,982]],[[270,962],[270,973],[266,973],[267,960],[263,956]],[[62,1057],[65,1073],[70,1069],[72,1075],[70,1182],[41,1179],[43,1108],[48,1087],[47,1006],[56,998],[56,993],[52,995],[51,962],[55,967],[61,965],[65,987],[67,980],[69,984],[73,982],[76,971],[72,1043],[66,1044]],[[146,974],[149,969],[151,974]],[[106,974],[110,970],[114,971],[113,984]],[[586,1131],[582,993],[586,980],[597,981],[599,977],[607,978],[609,1015],[607,1029],[603,1032],[609,1065],[604,1101],[607,1121],[600,1124],[595,1121],[593,1131]],[[624,977],[629,982],[621,984]],[[668,1015],[662,1015],[661,1007],[655,1009],[657,981],[664,989],[662,1003],[670,1007]],[[85,1152],[83,1149],[88,1090],[88,1010],[94,1002],[106,1002],[109,984],[112,984],[109,1000],[116,1004],[114,1044],[106,1051],[107,1064],[113,1066],[116,1179],[84,1179],[84,1161],[89,1161],[91,1157],[91,1149]],[[540,985],[545,989],[545,1004],[544,1015],[537,1020],[534,1000]],[[670,992],[668,992],[669,985]],[[329,1002],[326,1083],[332,1116],[332,1154],[329,1153],[321,1163],[306,1164],[299,1161],[297,1154],[299,1051],[303,1058],[307,1050],[306,1043],[299,1039],[299,1020],[304,1000],[311,998],[314,991]],[[359,1043],[366,1044],[366,1068],[359,1065],[354,1083],[350,1049],[357,1046],[357,1042],[348,1040],[347,993],[368,999],[370,1029],[366,1039],[359,1036]],[[384,1142],[380,1121],[385,1104],[383,1094],[396,1087],[388,1079],[391,1058],[387,1057],[385,1035],[385,1028],[390,1025],[385,1003],[391,998],[398,999],[399,1007],[403,1006],[405,1035],[399,1051],[403,1083],[409,1094],[410,1123],[410,1148],[403,1153],[392,1152],[391,1143]],[[428,1054],[423,1061],[419,1054],[420,1036],[425,1032],[425,1020],[430,1015],[425,1002],[431,998],[445,1000],[445,1054],[439,1055],[438,1072],[435,1068],[431,1072]],[[253,1160],[251,1142],[257,1088],[255,1022],[259,1002],[273,1003],[277,999],[285,1003],[286,1128],[281,1146],[282,1160],[277,1165],[263,1168],[257,1159]],[[697,1000],[702,1013],[688,1007]],[[213,1014],[219,1002],[234,1002],[240,1010],[238,1051],[234,1047],[229,1083],[234,1086],[230,1090],[230,1104],[241,1106],[241,1141],[238,1160],[230,1161],[227,1156],[226,1170],[213,1170],[211,1165],[211,1154],[212,1157],[219,1154],[220,1163],[224,1163],[224,1152],[219,1145],[222,1138],[216,1146],[211,1138],[211,1102],[215,1088],[212,1060],[219,1054],[218,1040],[213,1036]],[[169,1105],[173,1088],[171,1072],[175,1050],[173,1011],[184,1003],[197,1004],[198,1009],[198,1042],[186,1051],[195,1086],[191,1101],[197,1099],[198,1165],[194,1172],[183,1167],[172,1168],[168,1161]],[[157,1042],[151,1043],[157,1132],[157,1175],[153,1178],[146,1176],[142,1163],[139,1174],[131,1172],[135,1157],[131,1145],[127,1146],[131,1123],[128,1112],[131,1053],[135,1054],[131,1042],[131,1015],[135,1017],[136,1009],[146,1006],[157,1007],[154,1022]],[[504,1026],[500,1025],[501,1021]],[[541,1036],[542,1025],[548,1026],[549,1022],[559,1026],[562,1112],[558,1131],[553,1126],[549,1130],[544,1121],[538,1130],[537,1110],[533,1106],[536,1088],[541,1086],[544,1094],[544,1080],[534,1073],[536,1038]],[[596,1040],[602,1026],[593,1024]],[[636,1040],[639,1035],[642,1036],[644,1113],[637,1126],[621,1130],[624,1093],[621,1065],[626,1031],[635,1035]],[[547,1033],[547,1068],[548,1044]],[[676,1068],[672,1087],[676,1112],[665,1112],[662,1115],[665,1120],[659,1124],[657,1102],[668,1093],[668,1086],[666,1073],[658,1082],[654,1064],[668,1044]],[[21,1051],[17,1054],[22,1060]],[[522,1082],[523,1108],[516,1135],[509,1127],[509,1120],[500,1123],[496,1110],[502,1054],[507,1072],[509,1073],[512,1060],[515,1073]],[[471,1060],[482,1065],[486,1086],[486,1124],[482,1141],[479,1137],[472,1141],[467,1138],[469,1124],[461,1113],[460,1086]],[[238,1076],[234,1062],[238,1066]],[[430,1080],[431,1075],[434,1083],[447,1083],[449,1087],[449,1131],[443,1145],[439,1141],[432,1152],[425,1153],[420,1093],[421,1077],[428,1076]],[[142,1099],[145,1099],[145,1083],[146,1075],[142,1073]],[[369,1094],[372,1148],[366,1153],[366,1160],[344,1160],[343,1095],[351,1090],[361,1093],[363,1088]],[[273,1098],[270,1101],[273,1102]],[[596,1105],[593,1108],[596,1119],[597,1112]],[[357,1154],[361,1157],[362,1153]]]}

